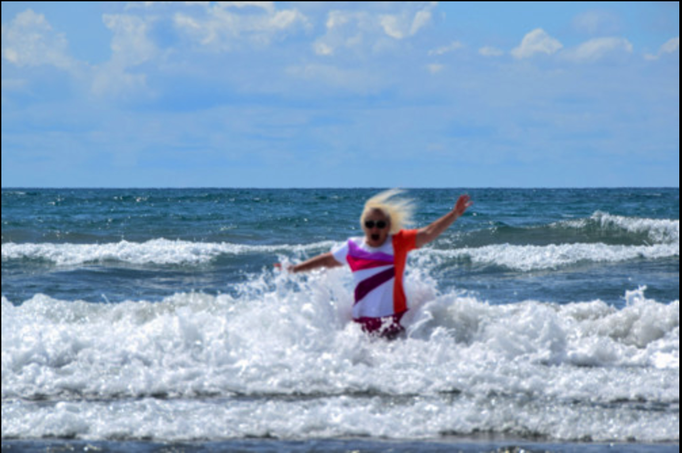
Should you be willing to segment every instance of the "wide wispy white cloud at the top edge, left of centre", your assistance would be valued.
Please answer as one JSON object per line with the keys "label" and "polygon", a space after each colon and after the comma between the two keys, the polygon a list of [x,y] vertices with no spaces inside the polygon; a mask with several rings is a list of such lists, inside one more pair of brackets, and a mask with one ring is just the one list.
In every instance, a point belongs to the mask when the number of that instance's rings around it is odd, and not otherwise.
{"label": "wide wispy white cloud at the top edge, left of centre", "polygon": [[[255,7],[260,13],[235,13],[233,8]],[[297,9],[277,10],[271,2],[220,2],[204,9],[198,16],[176,13],[177,30],[207,49],[226,52],[242,43],[267,46],[270,42],[289,32],[311,27],[308,18]]]}

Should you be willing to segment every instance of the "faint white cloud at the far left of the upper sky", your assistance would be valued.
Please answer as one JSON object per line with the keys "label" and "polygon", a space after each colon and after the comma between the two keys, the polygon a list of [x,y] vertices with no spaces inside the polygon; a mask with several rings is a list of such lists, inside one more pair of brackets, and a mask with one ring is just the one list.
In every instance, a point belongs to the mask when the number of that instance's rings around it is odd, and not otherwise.
{"label": "faint white cloud at the far left of the upper sky", "polygon": [[42,14],[26,10],[2,26],[2,58],[19,66],[52,65],[74,71],[76,62],[69,56],[68,41],[57,33]]}

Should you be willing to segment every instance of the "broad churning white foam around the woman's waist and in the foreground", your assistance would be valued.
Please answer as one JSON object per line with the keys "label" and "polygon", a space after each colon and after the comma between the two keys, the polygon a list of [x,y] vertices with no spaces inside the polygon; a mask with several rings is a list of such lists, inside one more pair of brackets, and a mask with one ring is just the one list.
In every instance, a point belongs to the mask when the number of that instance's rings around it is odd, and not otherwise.
{"label": "broad churning white foam around the woman's waist and in the foreground", "polygon": [[495,306],[414,272],[408,336],[385,342],[349,322],[349,278],[264,273],[239,296],[158,303],[3,297],[2,435],[679,440],[678,301]]}

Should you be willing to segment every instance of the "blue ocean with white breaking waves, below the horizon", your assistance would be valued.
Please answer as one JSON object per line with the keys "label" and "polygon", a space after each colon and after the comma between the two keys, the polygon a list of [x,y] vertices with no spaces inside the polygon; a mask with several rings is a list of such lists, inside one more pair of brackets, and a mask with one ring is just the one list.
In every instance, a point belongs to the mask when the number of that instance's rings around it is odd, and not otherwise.
{"label": "blue ocean with white breaking waves, below the horizon", "polygon": [[2,451],[679,451],[679,189],[413,189],[406,335],[350,322],[380,189],[3,189]]}

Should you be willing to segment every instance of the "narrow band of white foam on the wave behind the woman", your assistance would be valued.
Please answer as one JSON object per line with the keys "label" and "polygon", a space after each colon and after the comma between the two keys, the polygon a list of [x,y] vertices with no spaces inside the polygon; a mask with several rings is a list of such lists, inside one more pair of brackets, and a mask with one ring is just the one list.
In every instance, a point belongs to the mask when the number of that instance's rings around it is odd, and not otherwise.
{"label": "narrow band of white foam on the wave behind the woman", "polygon": [[[285,254],[306,256],[328,250],[332,241],[308,245],[240,245],[154,239],[143,243],[121,241],[111,244],[2,244],[2,259],[46,260],[58,266],[123,262],[130,264],[200,264],[222,255]],[[679,257],[679,243],[653,245],[496,244],[453,250],[427,248],[414,253],[421,265],[452,260],[469,260],[477,265],[502,266],[516,271],[556,269],[579,263],[618,263],[637,259]]]}

